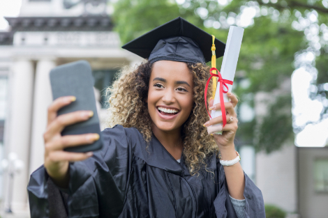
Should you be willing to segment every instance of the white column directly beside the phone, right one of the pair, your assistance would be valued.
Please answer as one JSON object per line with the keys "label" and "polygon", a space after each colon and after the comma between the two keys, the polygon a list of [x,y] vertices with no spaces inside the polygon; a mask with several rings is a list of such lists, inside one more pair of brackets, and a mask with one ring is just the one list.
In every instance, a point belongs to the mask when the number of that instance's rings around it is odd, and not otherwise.
{"label": "white column directly beside the phone, right one of the pair", "polygon": [[49,73],[56,64],[54,61],[44,59],[36,63],[36,80],[34,86],[33,120],[31,132],[31,153],[29,173],[33,173],[44,162],[45,146],[43,133],[47,126],[47,107],[52,102],[52,91]]}

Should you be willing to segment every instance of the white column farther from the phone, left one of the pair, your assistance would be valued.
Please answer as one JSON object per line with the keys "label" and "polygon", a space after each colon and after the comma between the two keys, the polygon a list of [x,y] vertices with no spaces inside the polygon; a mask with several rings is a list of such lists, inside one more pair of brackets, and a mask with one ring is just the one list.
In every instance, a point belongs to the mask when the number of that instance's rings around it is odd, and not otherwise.
{"label": "white column farther from the phone, left one of the pair", "polygon": [[[13,63],[10,72],[10,99],[8,105],[8,137],[6,157],[14,152],[24,162],[24,169],[15,176],[13,182],[13,211],[27,209],[27,182],[29,178],[29,142],[31,134],[31,109],[34,69],[31,61],[20,60]],[[8,178],[3,187],[8,203]]]}

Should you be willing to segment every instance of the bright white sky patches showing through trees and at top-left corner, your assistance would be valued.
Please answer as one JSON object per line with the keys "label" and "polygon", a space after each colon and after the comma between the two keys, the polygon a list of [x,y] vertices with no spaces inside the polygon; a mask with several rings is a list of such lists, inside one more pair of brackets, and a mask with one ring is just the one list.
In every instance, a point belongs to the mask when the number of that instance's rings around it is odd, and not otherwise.
{"label": "bright white sky patches showing through trees and at top-left corner", "polygon": [[[176,0],[177,3],[183,4],[185,0]],[[218,3],[226,5],[230,0],[218,0]],[[275,1],[275,0],[271,0]],[[8,29],[8,22],[3,17],[16,17],[20,13],[20,6],[22,0],[0,0],[0,31],[6,31]],[[202,16],[207,16],[207,9],[197,10],[197,13]],[[230,25],[237,24],[238,26],[249,26],[253,24],[253,18],[258,15],[265,15],[265,11],[258,10],[256,7],[244,7],[242,9],[241,15],[236,17],[233,20],[228,21]],[[316,17],[315,13],[308,15],[308,21],[315,24]],[[304,21],[304,20],[301,20]],[[293,23],[295,29],[302,28],[302,22]],[[221,27],[220,22],[205,22],[205,26],[213,26],[218,29]],[[298,26],[297,26],[298,25]],[[310,41],[313,40],[313,48],[318,49],[318,43],[315,42],[315,34],[318,33],[315,29],[310,29],[310,35],[313,33],[313,36],[307,35],[306,38],[310,38]],[[328,36],[327,36],[328,38]],[[242,45],[241,45],[242,46]],[[320,48],[320,47],[319,47]],[[296,57],[296,70],[292,73],[292,97],[293,97],[293,109],[292,113],[295,116],[293,123],[294,125],[304,125],[308,121],[318,122],[320,118],[320,112],[323,109],[322,104],[327,104],[328,101],[323,103],[319,100],[311,100],[308,98],[308,92],[313,88],[311,82],[313,79],[316,79],[315,68],[304,67],[304,64],[311,63],[315,61],[315,52],[309,51],[299,54]],[[297,65],[297,63],[299,63]],[[327,84],[328,90],[328,84]],[[302,132],[299,132],[295,137],[295,144],[297,146],[325,146],[328,138],[328,117],[322,122],[317,124],[306,125]]]}

